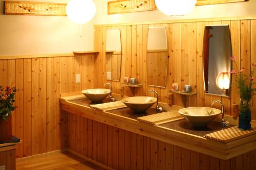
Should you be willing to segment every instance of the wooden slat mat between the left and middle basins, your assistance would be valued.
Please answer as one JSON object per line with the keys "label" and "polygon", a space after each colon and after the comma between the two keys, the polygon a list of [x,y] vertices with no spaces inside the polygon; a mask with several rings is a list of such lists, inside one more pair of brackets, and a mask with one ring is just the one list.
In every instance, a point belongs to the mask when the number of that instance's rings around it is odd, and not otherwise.
{"label": "wooden slat mat between the left and middle basins", "polygon": [[116,101],[116,102],[91,105],[90,107],[94,110],[109,111],[109,110],[114,110],[114,109],[125,108],[127,106],[125,104],[123,104],[121,101]]}

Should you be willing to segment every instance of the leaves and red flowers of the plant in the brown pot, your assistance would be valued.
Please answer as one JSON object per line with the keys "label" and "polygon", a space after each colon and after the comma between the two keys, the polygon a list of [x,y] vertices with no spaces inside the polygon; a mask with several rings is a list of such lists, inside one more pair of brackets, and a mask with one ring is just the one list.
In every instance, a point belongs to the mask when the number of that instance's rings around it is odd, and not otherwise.
{"label": "leaves and red flowers of the plant in the brown pot", "polygon": [[4,89],[0,85],[0,117],[5,121],[8,120],[8,116],[11,115],[11,111],[15,109],[13,103],[15,102],[16,87],[6,86]]}

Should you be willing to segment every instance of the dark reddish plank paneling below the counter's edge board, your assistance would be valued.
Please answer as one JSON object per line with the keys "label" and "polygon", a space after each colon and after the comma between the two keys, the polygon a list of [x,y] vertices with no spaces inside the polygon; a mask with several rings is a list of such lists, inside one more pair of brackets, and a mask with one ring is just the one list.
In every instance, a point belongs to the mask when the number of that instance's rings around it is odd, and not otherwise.
{"label": "dark reddish plank paneling below the counter's edge board", "polygon": [[[102,136],[106,146],[102,146],[102,152],[107,152],[103,156],[98,152],[88,155],[88,158],[102,160],[102,164],[114,169],[254,169],[256,150],[241,156],[222,160],[195,151],[190,151],[172,144],[168,144],[156,139],[141,136],[116,127],[101,124],[94,120],[92,122],[91,134],[85,131],[76,131],[77,119],[86,119],[79,115],[68,113],[69,149],[86,156],[82,150],[77,150],[80,145],[92,139],[93,134]],[[101,124],[102,130],[94,128],[93,124]],[[97,126],[98,127],[98,126]],[[106,128],[107,133],[103,131]],[[79,133],[79,134],[78,134]],[[81,140],[76,140],[76,135],[83,136]],[[90,141],[91,142],[91,141]],[[92,143],[94,145],[94,143]],[[98,150],[98,145],[95,145]],[[101,146],[100,146],[101,147]],[[92,150],[93,151],[93,150]],[[94,155],[95,154],[95,155]]]}

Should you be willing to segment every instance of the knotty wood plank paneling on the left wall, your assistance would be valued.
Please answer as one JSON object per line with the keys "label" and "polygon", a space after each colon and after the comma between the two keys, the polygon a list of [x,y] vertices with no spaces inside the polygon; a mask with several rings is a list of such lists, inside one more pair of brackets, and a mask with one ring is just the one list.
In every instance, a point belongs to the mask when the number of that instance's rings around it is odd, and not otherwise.
{"label": "knotty wood plank paneling on the left wall", "polygon": [[[22,139],[17,144],[17,157],[67,148],[68,114],[60,112],[60,93],[93,87],[93,76],[88,76],[93,73],[93,65],[94,54],[0,60],[0,85],[17,88],[17,108],[12,115],[13,135]],[[81,74],[81,83],[75,83],[75,74]],[[79,127],[74,131],[80,133],[85,120],[76,122]],[[76,140],[82,140],[81,136]],[[83,146],[78,149],[88,150]]]}

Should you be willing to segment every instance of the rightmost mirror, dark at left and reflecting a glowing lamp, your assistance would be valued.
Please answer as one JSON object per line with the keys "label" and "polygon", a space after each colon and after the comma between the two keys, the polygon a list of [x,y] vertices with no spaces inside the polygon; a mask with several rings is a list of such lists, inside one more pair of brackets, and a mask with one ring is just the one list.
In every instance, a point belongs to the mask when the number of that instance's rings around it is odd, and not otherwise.
{"label": "rightmost mirror, dark at left and reflecting a glowing lamp", "polygon": [[229,26],[205,26],[203,46],[205,93],[229,96],[232,68]]}

